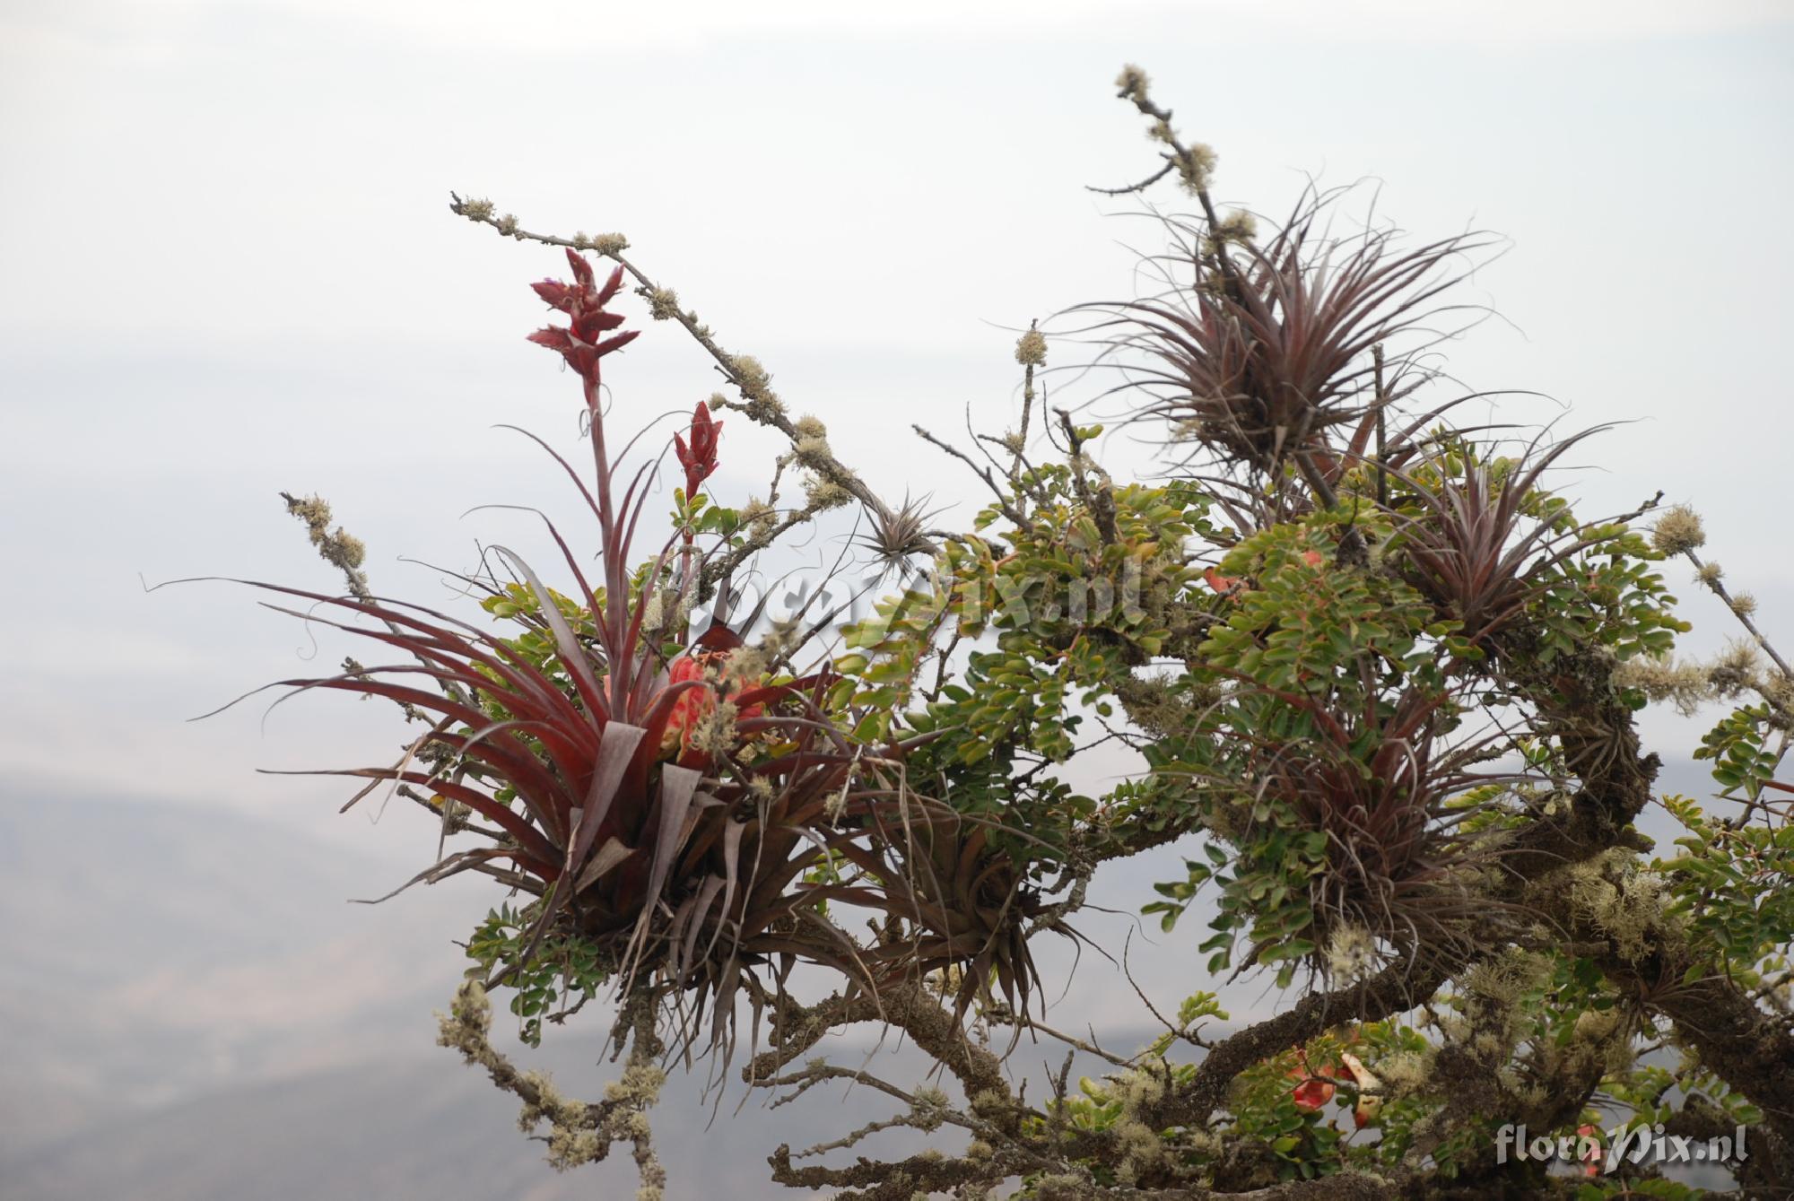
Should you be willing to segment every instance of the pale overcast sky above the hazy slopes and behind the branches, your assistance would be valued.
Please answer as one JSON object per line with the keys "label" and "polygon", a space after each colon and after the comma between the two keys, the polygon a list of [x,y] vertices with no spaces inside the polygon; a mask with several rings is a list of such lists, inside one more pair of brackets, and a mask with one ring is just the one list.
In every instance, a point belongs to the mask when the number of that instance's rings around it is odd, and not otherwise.
{"label": "pale overcast sky above the hazy slopes and behind the branches", "polygon": [[[1227,199],[1277,212],[1308,174],[1374,179],[1415,235],[1509,238],[1467,294],[1503,321],[1453,371],[1555,402],[1512,419],[1631,421],[1577,493],[1694,502],[1794,640],[1785,5],[9,0],[4,787],[389,842],[327,817],[334,783],[253,774],[384,755],[377,706],[183,722],[343,651],[307,663],[249,593],[145,595],[140,574],[334,586],[278,489],[328,497],[375,584],[422,597],[438,575],[400,556],[529,541],[470,505],[570,513],[540,452],[490,428],[574,437],[576,385],[522,341],[526,281],[560,264],[454,219],[450,188],[527,228],[626,233],[875,488],[974,498],[908,425],[956,430],[971,405],[1001,428],[1014,328],[1132,292],[1154,231],[1084,188],[1154,165],[1110,86],[1128,61],[1218,151]],[[714,389],[676,333],[612,360],[624,418]],[[739,500],[771,443],[728,427],[718,491]],[[1683,595],[1695,645],[1731,633]],[[400,842],[418,853],[414,826]]]}

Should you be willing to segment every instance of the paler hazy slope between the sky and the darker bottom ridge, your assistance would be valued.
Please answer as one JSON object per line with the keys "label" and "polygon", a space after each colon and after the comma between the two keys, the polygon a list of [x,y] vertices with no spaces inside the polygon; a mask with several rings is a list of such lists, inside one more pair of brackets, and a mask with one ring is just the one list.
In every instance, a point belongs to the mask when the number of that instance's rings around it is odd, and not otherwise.
{"label": "paler hazy slope between the sky and the darker bottom ridge", "polygon": [[[470,893],[253,817],[90,798],[0,805],[0,1153],[83,1117],[429,1047]],[[41,1099],[41,1101],[39,1101]]]}

